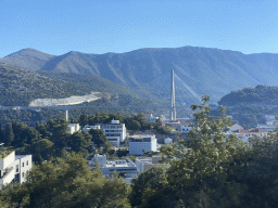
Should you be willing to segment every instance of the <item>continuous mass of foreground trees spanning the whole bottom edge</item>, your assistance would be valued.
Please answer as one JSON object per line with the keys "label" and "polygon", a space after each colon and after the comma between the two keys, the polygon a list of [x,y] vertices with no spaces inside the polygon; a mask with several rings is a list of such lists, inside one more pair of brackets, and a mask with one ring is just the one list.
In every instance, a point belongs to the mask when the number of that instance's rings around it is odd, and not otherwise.
{"label": "continuous mass of foreground trees spanning the whole bottom edge", "polygon": [[97,166],[89,170],[80,155],[64,152],[62,158],[34,167],[26,183],[1,191],[1,207],[276,207],[278,132],[250,144],[227,136],[223,130],[231,123],[225,108],[224,117],[208,116],[207,101],[204,96],[203,105],[192,106],[195,120],[189,140],[162,147],[169,167],[140,173],[130,187],[117,177],[102,178]]}

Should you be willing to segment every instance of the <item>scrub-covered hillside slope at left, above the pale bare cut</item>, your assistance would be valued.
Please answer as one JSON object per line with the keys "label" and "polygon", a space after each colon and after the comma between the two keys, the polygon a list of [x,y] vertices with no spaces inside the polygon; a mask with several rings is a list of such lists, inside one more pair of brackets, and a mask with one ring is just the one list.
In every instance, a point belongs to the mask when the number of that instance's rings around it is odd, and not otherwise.
{"label": "scrub-covered hillside slope at left, above the pale bare cut", "polygon": [[0,105],[26,106],[36,99],[64,99],[89,90],[31,70],[0,64]]}

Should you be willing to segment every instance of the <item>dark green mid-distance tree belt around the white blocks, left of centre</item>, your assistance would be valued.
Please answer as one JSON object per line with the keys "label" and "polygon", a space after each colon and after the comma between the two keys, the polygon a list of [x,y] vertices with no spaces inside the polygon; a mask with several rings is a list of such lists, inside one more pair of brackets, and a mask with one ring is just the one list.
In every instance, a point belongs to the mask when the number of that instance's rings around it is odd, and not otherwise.
{"label": "dark green mid-distance tree belt around the white blocks, left of centre", "polygon": [[[85,125],[110,123],[112,119],[117,119],[126,125],[131,131],[154,131],[156,133],[168,134],[169,129],[163,127],[160,119],[155,123],[146,121],[142,114],[132,117],[125,117],[122,114],[96,113],[96,115],[80,115],[74,122]],[[8,122],[4,128],[0,126],[0,143],[13,146],[21,154],[31,154],[36,162],[41,162],[50,157],[58,157],[63,154],[64,148],[71,152],[89,157],[93,154],[103,153],[112,157],[123,156],[122,152],[115,152],[103,134],[102,130],[90,130],[89,133],[67,132],[68,122],[65,119],[50,119],[46,123],[37,123],[35,128],[16,122]],[[92,148],[91,142],[94,143]],[[126,155],[127,153],[125,153]]]}

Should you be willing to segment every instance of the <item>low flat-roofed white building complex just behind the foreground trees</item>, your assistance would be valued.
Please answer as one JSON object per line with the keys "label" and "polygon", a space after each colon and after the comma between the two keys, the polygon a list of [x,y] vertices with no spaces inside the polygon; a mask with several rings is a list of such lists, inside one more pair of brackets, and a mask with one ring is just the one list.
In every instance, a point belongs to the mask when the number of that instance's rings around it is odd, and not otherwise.
{"label": "low flat-roofed white building complex just behind the foreground trees", "polygon": [[[123,177],[127,184],[131,184],[131,180],[137,178],[138,171],[135,162],[127,159],[106,159],[105,155],[94,155],[93,160],[98,160],[99,166],[101,167],[102,174],[105,177],[114,176],[115,171]],[[91,162],[93,164],[93,161]],[[90,164],[89,164],[90,166]]]}

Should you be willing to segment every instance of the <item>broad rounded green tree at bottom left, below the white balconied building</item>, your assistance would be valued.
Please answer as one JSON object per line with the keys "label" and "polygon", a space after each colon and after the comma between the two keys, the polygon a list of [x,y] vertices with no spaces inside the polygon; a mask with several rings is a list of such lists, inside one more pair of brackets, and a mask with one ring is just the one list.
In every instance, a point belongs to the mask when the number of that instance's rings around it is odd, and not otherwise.
{"label": "broad rounded green tree at bottom left, below the white balconied building", "polygon": [[35,166],[22,185],[1,191],[1,202],[11,207],[116,207],[130,208],[130,187],[122,179],[103,178],[77,154],[66,154]]}

